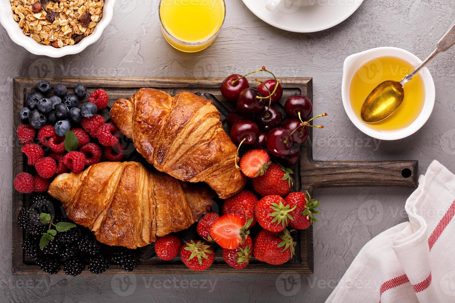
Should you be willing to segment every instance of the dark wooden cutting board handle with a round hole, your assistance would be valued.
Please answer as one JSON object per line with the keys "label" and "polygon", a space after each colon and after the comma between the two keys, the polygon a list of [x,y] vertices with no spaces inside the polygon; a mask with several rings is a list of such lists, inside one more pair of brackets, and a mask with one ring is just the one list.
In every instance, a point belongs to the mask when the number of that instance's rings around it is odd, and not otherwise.
{"label": "dark wooden cutting board handle with a round hole", "polygon": [[418,167],[418,161],[302,161],[302,185],[417,187]]}

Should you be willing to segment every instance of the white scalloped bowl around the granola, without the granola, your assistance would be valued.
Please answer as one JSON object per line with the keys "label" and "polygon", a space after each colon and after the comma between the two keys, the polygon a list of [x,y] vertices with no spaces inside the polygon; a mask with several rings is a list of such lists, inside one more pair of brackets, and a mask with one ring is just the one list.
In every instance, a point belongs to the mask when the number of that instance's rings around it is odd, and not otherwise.
{"label": "white scalloped bowl around the granola, without the granola", "polygon": [[55,48],[51,45],[39,44],[30,36],[24,35],[17,22],[13,19],[10,0],[0,0],[0,23],[10,35],[11,40],[16,44],[23,46],[27,51],[35,55],[44,55],[48,57],[59,58],[66,55],[77,54],[83,51],[87,46],[100,39],[103,30],[111,22],[114,13],[115,0],[104,0],[103,16],[95,30],[90,35],[83,38],[78,44],[66,45],[61,48]]}

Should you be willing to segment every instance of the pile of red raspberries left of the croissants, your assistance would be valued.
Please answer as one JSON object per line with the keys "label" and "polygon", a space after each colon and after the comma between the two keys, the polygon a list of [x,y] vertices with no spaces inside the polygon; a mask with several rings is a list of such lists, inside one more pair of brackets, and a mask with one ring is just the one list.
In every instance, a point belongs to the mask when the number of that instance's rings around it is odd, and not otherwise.
{"label": "pile of red raspberries left of the croissants", "polygon": [[[89,97],[89,102],[94,103],[98,111],[107,107],[107,100],[107,94],[102,89],[91,93]],[[15,177],[13,183],[18,192],[45,192],[55,175],[81,172],[86,166],[100,162],[100,145],[104,147],[108,161],[116,162],[123,158],[120,133],[114,125],[106,123],[103,116],[95,114],[90,118],[83,117],[81,127],[73,127],[71,131],[77,136],[79,145],[76,151],[67,152],[65,137],[57,136],[54,126],[41,127],[37,136],[30,124],[17,127],[17,138],[23,144],[20,150],[27,156],[27,164],[35,167],[36,171],[33,176],[21,172]]]}

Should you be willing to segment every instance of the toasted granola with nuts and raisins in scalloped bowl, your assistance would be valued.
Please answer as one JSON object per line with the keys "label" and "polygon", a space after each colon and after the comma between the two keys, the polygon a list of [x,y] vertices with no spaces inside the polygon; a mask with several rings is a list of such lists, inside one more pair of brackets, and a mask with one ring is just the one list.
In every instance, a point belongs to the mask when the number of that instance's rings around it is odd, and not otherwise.
{"label": "toasted granola with nuts and raisins in scalloped bowl", "polygon": [[36,42],[60,48],[90,35],[101,20],[104,0],[50,2],[47,14],[39,0],[10,0],[13,18]]}

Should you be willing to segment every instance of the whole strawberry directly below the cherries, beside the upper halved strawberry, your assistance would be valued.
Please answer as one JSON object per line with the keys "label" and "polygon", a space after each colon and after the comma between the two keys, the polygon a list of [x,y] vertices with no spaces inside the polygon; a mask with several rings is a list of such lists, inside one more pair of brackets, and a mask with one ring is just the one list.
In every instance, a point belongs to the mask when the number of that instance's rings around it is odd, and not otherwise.
{"label": "whole strawberry directly below the cherries, beside the upper halved strawberry", "polygon": [[292,170],[279,164],[272,163],[267,172],[252,180],[254,190],[262,197],[268,195],[286,196],[291,190],[293,179]]}

